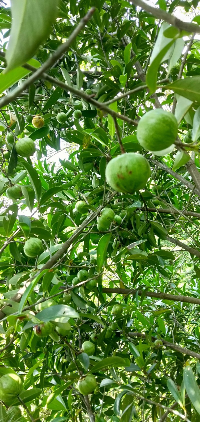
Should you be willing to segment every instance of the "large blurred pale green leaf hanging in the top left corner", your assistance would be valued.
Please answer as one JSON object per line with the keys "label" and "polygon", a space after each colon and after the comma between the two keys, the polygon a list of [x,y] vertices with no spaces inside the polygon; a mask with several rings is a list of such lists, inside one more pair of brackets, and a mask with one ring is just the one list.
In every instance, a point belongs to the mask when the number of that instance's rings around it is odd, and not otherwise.
{"label": "large blurred pale green leaf hanging in the top left corner", "polygon": [[46,39],[57,16],[58,0],[11,0],[12,25],[6,70],[24,65]]}

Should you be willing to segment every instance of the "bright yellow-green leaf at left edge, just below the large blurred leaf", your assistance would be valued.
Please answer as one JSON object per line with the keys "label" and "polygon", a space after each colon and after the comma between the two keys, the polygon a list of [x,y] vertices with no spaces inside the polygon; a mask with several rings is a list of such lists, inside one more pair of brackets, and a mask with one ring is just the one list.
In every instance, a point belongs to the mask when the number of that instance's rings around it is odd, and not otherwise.
{"label": "bright yellow-green leaf at left edge, just below the large blurred leaf", "polygon": [[[29,60],[28,64],[34,66],[34,68],[39,68],[41,66],[41,63],[39,63],[38,60],[35,59]],[[2,94],[5,89],[12,87],[12,85],[18,82],[19,79],[24,78],[24,76],[27,76],[30,72],[31,70],[19,67],[10,70],[7,73],[0,73],[0,94]]]}

